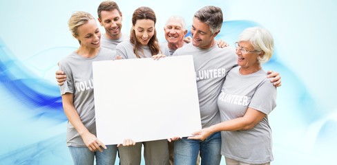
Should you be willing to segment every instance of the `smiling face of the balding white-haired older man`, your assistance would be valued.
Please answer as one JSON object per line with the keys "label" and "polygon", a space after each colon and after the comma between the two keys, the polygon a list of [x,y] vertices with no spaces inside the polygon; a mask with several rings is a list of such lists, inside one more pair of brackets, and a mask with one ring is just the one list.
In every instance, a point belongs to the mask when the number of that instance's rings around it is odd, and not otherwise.
{"label": "smiling face of the balding white-haired older man", "polygon": [[170,44],[179,44],[184,42],[184,36],[187,30],[182,28],[182,23],[177,19],[170,19],[164,28],[165,39]]}

